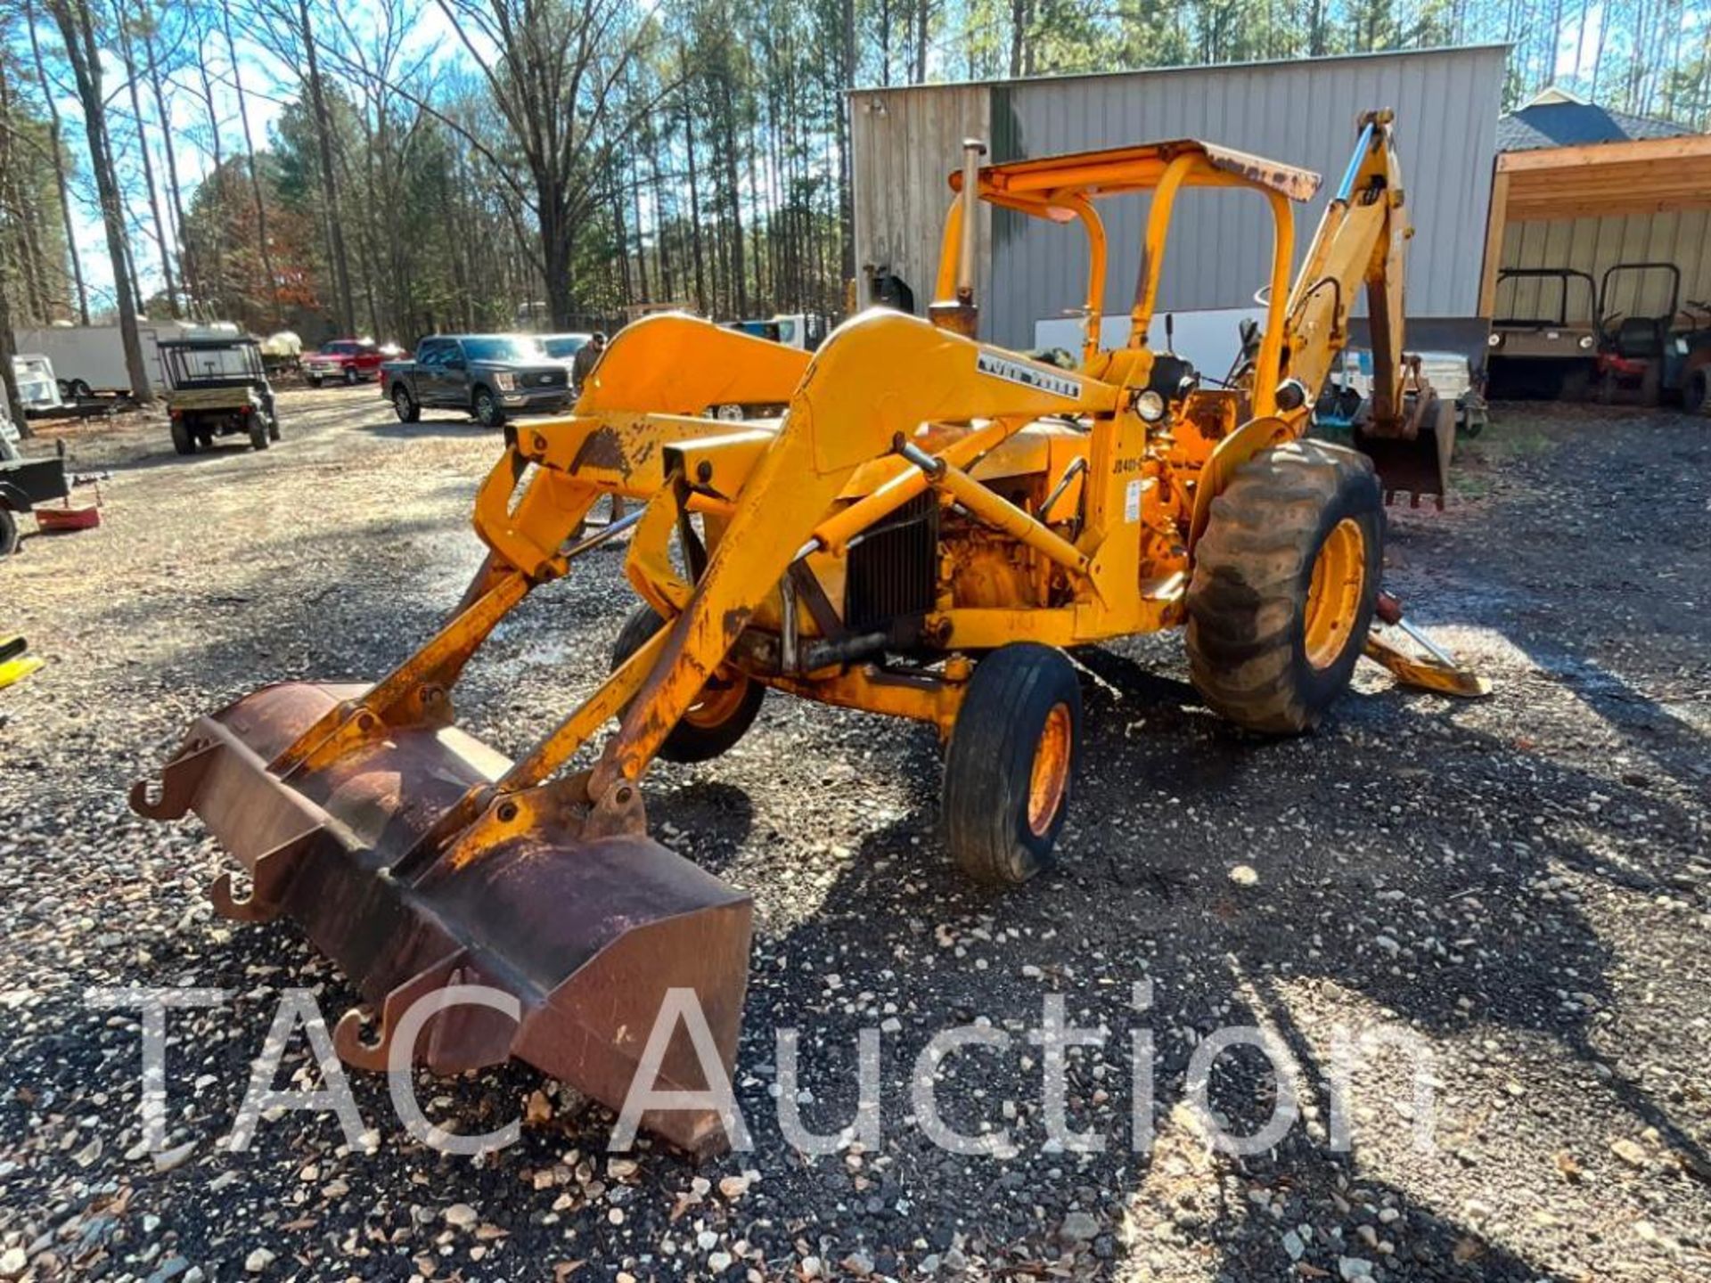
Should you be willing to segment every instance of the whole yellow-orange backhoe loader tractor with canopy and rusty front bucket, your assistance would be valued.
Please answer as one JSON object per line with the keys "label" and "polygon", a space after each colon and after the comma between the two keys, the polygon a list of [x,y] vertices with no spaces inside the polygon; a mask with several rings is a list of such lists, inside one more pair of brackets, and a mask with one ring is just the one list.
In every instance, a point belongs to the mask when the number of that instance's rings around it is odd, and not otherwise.
{"label": "whole yellow-orange backhoe loader tractor with canopy and rusty front bucket", "polygon": [[[571,414],[506,429],[476,498],[488,558],[436,636],[371,686],[282,683],[200,718],[132,792],[151,818],[195,811],[246,867],[243,893],[216,881],[221,913],[287,913],[346,970],[370,1004],[335,1028],[347,1062],[515,1055],[618,1109],[664,1004],[691,990],[705,1026],[667,1025],[642,1086],[729,1074],[751,898],[648,837],[642,778],[654,758],[729,749],[768,689],[934,725],[944,845],[994,884],[1047,867],[1064,825],[1073,647],[1179,628],[1206,703],[1266,734],[1314,727],[1364,648],[1406,681],[1480,689],[1369,636],[1376,611],[1396,618],[1382,486],[1367,457],[1304,440],[1365,287],[1362,440],[1410,488],[1441,488],[1453,407],[1401,356],[1389,113],[1362,118],[1294,287],[1312,173],[1193,140],[986,168],[979,151],[951,176],[927,318],[864,311],[813,356],[684,315],[626,327]],[[1146,347],[1186,188],[1258,198],[1273,224],[1266,323],[1228,381]],[[1131,193],[1150,195],[1131,337],[1102,351],[1098,204]],[[975,337],[977,200],[1086,234],[1075,368]],[[725,404],[785,411],[707,414]],[[638,506],[592,529],[602,494]],[[483,640],[621,530],[640,604],[611,672],[515,761],[457,729],[452,689]],[[477,984],[515,1002],[407,1018]],[[705,1100],[640,1124],[693,1153],[725,1143]]]}

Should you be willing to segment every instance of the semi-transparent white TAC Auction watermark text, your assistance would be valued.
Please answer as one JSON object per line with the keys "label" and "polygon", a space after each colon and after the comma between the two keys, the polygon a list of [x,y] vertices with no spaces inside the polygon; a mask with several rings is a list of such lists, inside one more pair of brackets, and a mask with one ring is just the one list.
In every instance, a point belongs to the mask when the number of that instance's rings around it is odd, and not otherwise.
{"label": "semi-transparent white TAC Auction watermark text", "polygon": [[[197,987],[135,987],[91,989],[86,992],[91,1008],[132,1009],[140,1016],[142,1032],[142,1129],[144,1144],[151,1151],[166,1148],[168,1102],[171,1097],[171,1055],[168,1025],[171,1013],[186,1009],[222,1008],[233,1001],[226,989]],[[428,1023],[453,1006],[491,1008],[510,1020],[520,1020],[520,1002],[513,994],[489,985],[448,985],[424,994],[409,1004],[399,1018],[387,1045],[387,1090],[399,1126],[416,1141],[447,1155],[491,1155],[515,1144],[522,1136],[522,1119],[486,1132],[460,1132],[428,1119],[416,1095],[412,1073],[416,1045]],[[818,1156],[861,1144],[878,1150],[888,1127],[909,1126],[919,1129],[934,1146],[962,1156],[1011,1158],[1025,1146],[1037,1144],[1054,1153],[1104,1153],[1128,1148],[1133,1153],[1150,1153],[1155,1129],[1155,1078],[1158,1052],[1155,1032],[1148,1025],[1153,1009],[1153,985],[1141,980],[1131,987],[1129,1028],[1114,1032],[1105,1025],[1078,1028],[1069,1021],[1063,994],[1045,994],[1040,1001],[1039,1023],[1020,1038],[991,1023],[977,1021],[951,1025],[932,1032],[919,1047],[921,1033],[905,1040],[898,1033],[886,1035],[879,1026],[856,1032],[854,1045],[854,1109],[833,1131],[814,1131],[802,1117],[802,1030],[780,1026],[775,1030],[775,1078],[770,1105],[777,1115],[784,1143],[802,1155]],[[301,1030],[308,1050],[320,1073],[313,1088],[281,1088],[279,1073],[286,1050]],[[688,1038],[702,1073],[702,1088],[684,1090],[664,1086],[660,1066],[667,1049],[679,1037]],[[823,1037],[813,1038],[823,1045]],[[946,1085],[946,1067],[953,1061],[975,1057],[1001,1057],[1025,1044],[1039,1088],[1037,1117],[1040,1127],[1018,1134],[1008,1119],[968,1120],[970,1098],[956,1102],[963,1126],[946,1119],[939,1098]],[[1119,1044],[1128,1062],[1129,1117],[1126,1129],[1076,1131],[1071,1120],[1071,1049],[1093,1047],[1116,1050]],[[1270,1115],[1237,1131],[1211,1105],[1211,1076],[1225,1057],[1249,1049],[1263,1059],[1258,1078],[1268,1079]],[[886,1057],[909,1057],[907,1110],[893,1120],[886,1119],[885,1067]],[[1355,1131],[1355,1076],[1379,1055],[1389,1055],[1406,1066],[1408,1109],[1400,1110],[1412,1131],[1412,1143],[1420,1151],[1436,1148],[1436,1055],[1430,1044],[1401,1025],[1374,1023],[1359,1028],[1335,1026],[1329,1035],[1329,1054],[1316,1061],[1321,1079],[1312,1086],[1328,1103],[1324,1144],[1335,1153],[1353,1148]],[[895,1061],[893,1061],[895,1062]],[[1256,1081],[1258,1081],[1256,1078]],[[1388,1076],[1396,1085],[1394,1076]],[[1276,1033],[1259,1025],[1227,1025],[1194,1042],[1182,1081],[1182,1103],[1194,1114],[1206,1143],[1228,1155],[1259,1155],[1282,1144],[1302,1117],[1305,1074]],[[821,1093],[823,1093],[821,1083]],[[897,1091],[891,1093],[897,1098]],[[614,1102],[616,1105],[616,1102]],[[737,1100],[731,1074],[715,1045],[712,1028],[693,989],[669,989],[660,1001],[647,1044],[636,1061],[630,1088],[618,1117],[607,1134],[607,1150],[626,1151],[635,1146],[643,1117],[693,1110],[717,1115],[732,1150],[751,1151],[755,1132],[749,1117]],[[753,1105],[749,1112],[753,1112]],[[236,1119],[224,1146],[243,1153],[255,1141],[263,1122],[277,1124],[284,1114],[332,1114],[339,1120],[346,1143],[352,1151],[371,1148],[364,1136],[371,1129],[364,1120],[344,1062],[334,1049],[327,1021],[313,992],[308,989],[281,990],[274,1018],[262,1040],[260,1052],[250,1067],[250,1081],[238,1107]],[[823,1126],[823,1124],[821,1124]]]}

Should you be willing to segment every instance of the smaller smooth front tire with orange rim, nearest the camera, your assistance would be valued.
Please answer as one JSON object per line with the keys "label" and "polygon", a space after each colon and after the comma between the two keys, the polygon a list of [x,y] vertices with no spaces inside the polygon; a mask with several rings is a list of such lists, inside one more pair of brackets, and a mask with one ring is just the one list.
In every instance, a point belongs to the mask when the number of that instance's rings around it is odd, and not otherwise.
{"label": "smaller smooth front tire with orange rim, nearest the camera", "polygon": [[944,845],[977,883],[1051,867],[1081,742],[1081,683],[1054,647],[1013,642],[975,664],[944,751]]}

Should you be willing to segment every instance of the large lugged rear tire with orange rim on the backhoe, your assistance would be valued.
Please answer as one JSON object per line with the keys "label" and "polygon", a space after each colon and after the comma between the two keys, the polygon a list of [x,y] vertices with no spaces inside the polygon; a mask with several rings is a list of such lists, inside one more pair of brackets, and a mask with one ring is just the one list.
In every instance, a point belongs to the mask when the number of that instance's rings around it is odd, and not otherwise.
{"label": "large lugged rear tire with orange rim on the backhoe", "polygon": [[1218,713],[1299,734],[1348,688],[1372,624],[1384,503],[1365,455],[1292,441],[1211,503],[1187,590],[1187,660]]}

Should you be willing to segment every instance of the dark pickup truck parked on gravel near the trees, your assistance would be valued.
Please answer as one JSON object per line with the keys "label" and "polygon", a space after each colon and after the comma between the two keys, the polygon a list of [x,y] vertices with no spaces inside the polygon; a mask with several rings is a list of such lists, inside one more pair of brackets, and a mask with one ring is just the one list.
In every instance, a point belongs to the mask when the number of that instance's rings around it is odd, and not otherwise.
{"label": "dark pickup truck parked on gravel near the trees", "polygon": [[551,414],[570,404],[570,366],[525,334],[436,334],[414,361],[380,366],[380,392],[402,423],[424,409],[457,409],[483,428],[512,414]]}

